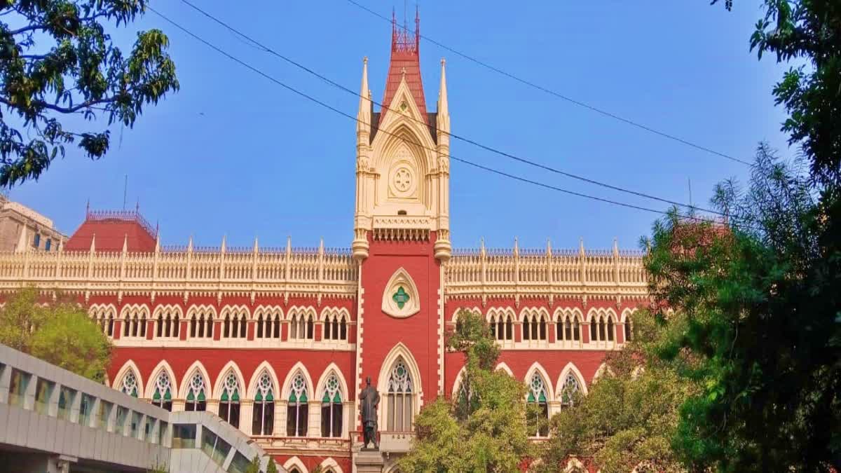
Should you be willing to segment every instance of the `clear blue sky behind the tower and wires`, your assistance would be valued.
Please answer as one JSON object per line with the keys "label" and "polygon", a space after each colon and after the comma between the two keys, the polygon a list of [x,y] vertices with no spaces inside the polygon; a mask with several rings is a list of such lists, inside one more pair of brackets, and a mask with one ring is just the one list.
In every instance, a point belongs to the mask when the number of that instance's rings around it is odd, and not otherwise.
{"label": "clear blue sky behind the tower and wires", "polygon": [[[394,3],[359,0],[390,15]],[[177,0],[152,6],[278,80],[355,114],[357,98],[235,38]],[[346,0],[256,1],[209,13],[281,54],[356,90],[368,56],[374,98],[382,99],[389,24]],[[759,3],[733,12],[686,2],[421,1],[421,33],[482,61],[600,109],[750,161],[758,141],[784,155],[783,110],[771,88],[782,68],[757,61],[748,37]],[[396,5],[402,17],[403,3]],[[413,10],[413,4],[410,4]],[[410,17],[413,18],[412,12]],[[38,182],[10,198],[39,210],[70,234],[85,205],[119,209],[128,200],[165,244],[347,247],[352,241],[355,124],[294,96],[166,24],[154,13],[114,31],[130,45],[135,30],[160,28],[171,40],[180,92],[145,110],[134,129],[112,128],[108,156],[91,162],[71,149]],[[666,199],[706,204],[722,178],[742,182],[748,167],[581,109],[421,42],[426,102],[435,109],[439,61],[447,58],[452,130],[517,156]],[[87,126],[92,126],[87,124]],[[105,123],[99,125],[104,127]],[[587,194],[665,206],[548,174],[453,141],[451,153]],[[451,167],[451,229],[456,247],[637,247],[656,215],[607,205],[484,173]]]}

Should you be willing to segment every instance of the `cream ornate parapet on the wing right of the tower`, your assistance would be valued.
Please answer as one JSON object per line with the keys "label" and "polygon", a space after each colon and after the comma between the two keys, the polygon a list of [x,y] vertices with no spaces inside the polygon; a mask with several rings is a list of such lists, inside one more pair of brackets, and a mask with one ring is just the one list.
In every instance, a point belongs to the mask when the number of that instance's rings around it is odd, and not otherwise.
{"label": "cream ornate parapet on the wing right of the tower", "polygon": [[455,249],[445,264],[447,297],[575,295],[642,298],[648,293],[643,252],[619,250]]}

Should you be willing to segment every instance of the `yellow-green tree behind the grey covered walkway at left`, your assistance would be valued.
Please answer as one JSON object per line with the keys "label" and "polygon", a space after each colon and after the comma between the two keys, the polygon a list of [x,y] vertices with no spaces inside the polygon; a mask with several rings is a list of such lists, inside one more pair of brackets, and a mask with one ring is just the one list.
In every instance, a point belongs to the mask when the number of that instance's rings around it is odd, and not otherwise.
{"label": "yellow-green tree behind the grey covered walkway at left", "polygon": [[41,306],[34,288],[0,308],[0,343],[97,381],[105,378],[112,348],[80,306],[61,300]]}

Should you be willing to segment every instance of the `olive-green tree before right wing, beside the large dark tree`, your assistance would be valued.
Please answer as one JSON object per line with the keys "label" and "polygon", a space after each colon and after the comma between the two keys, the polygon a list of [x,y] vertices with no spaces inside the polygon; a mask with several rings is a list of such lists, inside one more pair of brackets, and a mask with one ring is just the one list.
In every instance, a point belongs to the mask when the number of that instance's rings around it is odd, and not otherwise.
{"label": "olive-green tree before right wing, beside the large dark tree", "polygon": [[649,311],[634,313],[632,341],[607,355],[607,369],[587,396],[572,396],[571,406],[552,418],[537,470],[558,471],[570,457],[592,459],[604,473],[685,470],[671,441],[678,409],[696,388],[677,370],[690,359],[656,356],[660,343],[685,328],[680,314],[663,322]]}

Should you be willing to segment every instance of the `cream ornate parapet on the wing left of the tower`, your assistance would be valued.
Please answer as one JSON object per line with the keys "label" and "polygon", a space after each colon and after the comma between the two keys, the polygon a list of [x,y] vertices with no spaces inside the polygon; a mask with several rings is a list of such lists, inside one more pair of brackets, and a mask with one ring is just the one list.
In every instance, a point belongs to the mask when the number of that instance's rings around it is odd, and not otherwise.
{"label": "cream ornate parapet on the wing left of the tower", "polygon": [[0,291],[68,294],[356,295],[346,249],[164,247],[155,252],[0,252]]}

